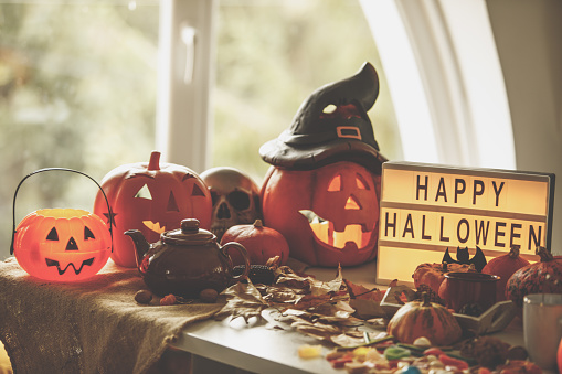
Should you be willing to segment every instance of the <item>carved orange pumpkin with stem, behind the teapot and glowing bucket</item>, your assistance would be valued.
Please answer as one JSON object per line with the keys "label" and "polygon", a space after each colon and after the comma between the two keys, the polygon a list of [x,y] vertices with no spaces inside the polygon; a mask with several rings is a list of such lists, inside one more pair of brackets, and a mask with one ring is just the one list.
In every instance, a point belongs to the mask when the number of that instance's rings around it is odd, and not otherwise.
{"label": "carved orange pumpkin with stem, behind the teapot and glowing bucket", "polygon": [[[137,267],[132,242],[124,233],[139,229],[149,243],[160,234],[180,227],[184,218],[197,218],[200,227],[211,226],[211,193],[191,169],[160,163],[160,152],[153,151],[149,162],[120,165],[102,181],[113,211],[113,260],[124,267]],[[100,194],[96,196],[94,213],[109,214]]]}

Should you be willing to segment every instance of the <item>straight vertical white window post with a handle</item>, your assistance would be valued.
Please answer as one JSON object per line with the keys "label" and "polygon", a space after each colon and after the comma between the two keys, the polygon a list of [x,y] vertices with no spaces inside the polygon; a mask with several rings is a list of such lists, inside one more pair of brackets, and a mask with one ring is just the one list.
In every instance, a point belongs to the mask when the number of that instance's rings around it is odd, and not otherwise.
{"label": "straight vertical white window post with a handle", "polygon": [[218,1],[162,0],[156,147],[168,162],[210,164]]}

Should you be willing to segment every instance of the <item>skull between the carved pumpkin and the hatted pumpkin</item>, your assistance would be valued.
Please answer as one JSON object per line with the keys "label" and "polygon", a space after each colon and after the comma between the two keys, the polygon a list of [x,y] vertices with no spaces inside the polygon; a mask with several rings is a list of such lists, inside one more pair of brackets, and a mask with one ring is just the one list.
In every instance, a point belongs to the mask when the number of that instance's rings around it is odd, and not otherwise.
{"label": "skull between the carved pumpkin and the hatted pumpkin", "polygon": [[213,199],[211,232],[219,241],[229,227],[261,218],[259,188],[247,174],[220,167],[204,171],[201,178]]}

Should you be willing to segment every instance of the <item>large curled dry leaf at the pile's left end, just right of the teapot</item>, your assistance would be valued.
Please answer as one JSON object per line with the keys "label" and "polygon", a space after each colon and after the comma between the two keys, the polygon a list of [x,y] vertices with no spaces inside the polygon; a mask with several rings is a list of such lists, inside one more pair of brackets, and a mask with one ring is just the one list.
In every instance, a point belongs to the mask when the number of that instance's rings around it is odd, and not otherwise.
{"label": "large curled dry leaf at the pile's left end, just right of the teapot", "polygon": [[221,295],[226,296],[226,304],[214,316],[216,320],[231,317],[231,320],[242,317],[248,323],[252,317],[262,318],[262,310],[268,307],[262,293],[248,280],[247,284],[237,282],[226,288]]}

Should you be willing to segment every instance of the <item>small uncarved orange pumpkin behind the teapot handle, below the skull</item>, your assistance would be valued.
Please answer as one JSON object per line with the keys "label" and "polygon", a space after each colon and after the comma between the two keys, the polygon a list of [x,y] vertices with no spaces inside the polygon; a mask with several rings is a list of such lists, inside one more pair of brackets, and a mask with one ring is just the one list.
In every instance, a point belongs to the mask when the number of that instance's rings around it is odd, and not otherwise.
{"label": "small uncarved orange pumpkin behind the teapot handle, below the skull", "polygon": [[[273,228],[264,227],[262,220],[256,220],[253,225],[231,226],[224,233],[221,245],[229,242],[242,244],[253,265],[265,265],[275,256],[279,256],[280,265],[285,265],[289,257],[289,246],[285,237]],[[244,258],[237,250],[229,255],[234,265],[244,264]]]}

